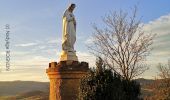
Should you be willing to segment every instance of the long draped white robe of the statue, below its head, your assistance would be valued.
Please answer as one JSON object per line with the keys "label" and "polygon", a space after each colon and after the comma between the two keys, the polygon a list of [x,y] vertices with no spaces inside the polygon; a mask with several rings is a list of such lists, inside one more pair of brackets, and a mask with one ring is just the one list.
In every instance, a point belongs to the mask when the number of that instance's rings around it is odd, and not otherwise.
{"label": "long draped white robe of the statue, below its head", "polygon": [[73,13],[66,10],[63,15],[62,50],[65,52],[75,52],[76,25]]}

